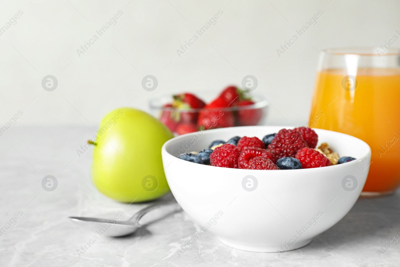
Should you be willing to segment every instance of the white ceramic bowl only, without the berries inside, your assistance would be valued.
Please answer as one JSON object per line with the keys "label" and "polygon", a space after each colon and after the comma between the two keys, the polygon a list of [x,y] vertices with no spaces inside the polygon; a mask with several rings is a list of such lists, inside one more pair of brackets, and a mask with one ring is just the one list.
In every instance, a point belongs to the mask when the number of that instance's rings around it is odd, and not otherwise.
{"label": "white ceramic bowl only, without the berries inside", "polygon": [[185,151],[208,148],[214,140],[227,141],[234,136],[262,139],[282,128],[294,127],[220,128],[181,135],[164,144],[162,160],[168,185],[182,209],[202,227],[196,233],[198,238],[210,231],[222,243],[236,249],[298,249],[332,227],[352,208],[364,187],[371,149],[350,135],[314,129],[318,145],[328,143],[340,157],[356,158],[349,163],[314,169],[230,169],[177,158]]}

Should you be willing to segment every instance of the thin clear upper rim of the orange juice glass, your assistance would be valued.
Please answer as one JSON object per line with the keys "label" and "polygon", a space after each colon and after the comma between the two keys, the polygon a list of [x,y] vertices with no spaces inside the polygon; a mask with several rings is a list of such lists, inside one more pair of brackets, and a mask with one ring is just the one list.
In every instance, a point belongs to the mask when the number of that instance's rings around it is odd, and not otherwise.
{"label": "thin clear upper rim of the orange juice glass", "polygon": [[[379,51],[378,51],[379,50]],[[344,55],[358,55],[358,56],[396,56],[400,55],[400,48],[389,47],[382,48],[380,46],[346,46],[334,47],[323,49],[324,54],[344,56]]]}

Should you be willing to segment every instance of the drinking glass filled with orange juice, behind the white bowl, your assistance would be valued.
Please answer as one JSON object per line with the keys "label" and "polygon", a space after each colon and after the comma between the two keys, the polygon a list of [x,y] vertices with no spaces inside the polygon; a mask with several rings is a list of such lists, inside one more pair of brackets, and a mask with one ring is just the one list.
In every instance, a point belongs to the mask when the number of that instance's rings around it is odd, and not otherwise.
{"label": "drinking glass filled with orange juice, behind the white bowl", "polygon": [[311,127],[344,132],[371,147],[365,196],[393,193],[400,184],[400,49],[387,48],[323,50],[310,112]]}

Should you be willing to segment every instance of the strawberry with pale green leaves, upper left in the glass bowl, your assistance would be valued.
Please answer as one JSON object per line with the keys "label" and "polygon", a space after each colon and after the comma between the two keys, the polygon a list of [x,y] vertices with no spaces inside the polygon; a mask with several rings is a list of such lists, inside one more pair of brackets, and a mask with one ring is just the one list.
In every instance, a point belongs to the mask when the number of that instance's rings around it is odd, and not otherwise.
{"label": "strawberry with pale green leaves, upper left in the glass bowl", "polygon": [[[203,108],[206,105],[203,100],[190,93],[176,94],[173,98],[174,107],[179,109]],[[198,112],[196,111],[180,111],[180,114],[182,114],[184,122],[196,123],[197,121]]]}

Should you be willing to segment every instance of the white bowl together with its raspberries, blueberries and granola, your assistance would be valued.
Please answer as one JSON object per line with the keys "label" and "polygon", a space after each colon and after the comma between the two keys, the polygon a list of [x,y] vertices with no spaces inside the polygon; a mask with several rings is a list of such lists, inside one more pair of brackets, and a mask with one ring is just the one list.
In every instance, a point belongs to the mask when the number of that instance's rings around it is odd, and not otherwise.
{"label": "white bowl together with its raspberries, blueberries and granola", "polygon": [[306,127],[242,126],[174,137],[162,147],[184,211],[236,249],[284,253],[340,221],[364,187],[362,140]]}

